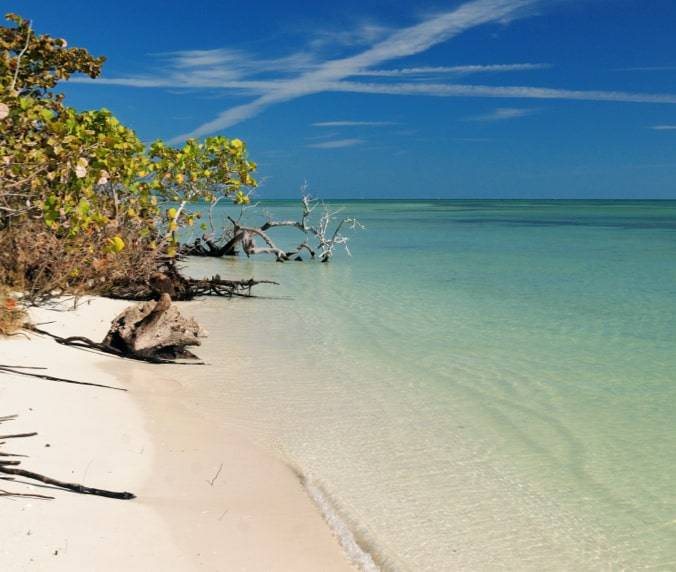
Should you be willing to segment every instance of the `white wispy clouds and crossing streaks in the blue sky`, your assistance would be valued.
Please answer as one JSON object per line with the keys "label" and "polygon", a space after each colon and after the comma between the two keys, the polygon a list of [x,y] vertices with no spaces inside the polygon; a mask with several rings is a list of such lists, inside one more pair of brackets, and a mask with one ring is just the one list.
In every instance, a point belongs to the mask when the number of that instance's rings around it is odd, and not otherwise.
{"label": "white wispy clouds and crossing streaks in the blue sky", "polygon": [[[152,75],[95,80],[99,84],[144,88],[227,89],[239,96],[249,96],[247,103],[225,109],[211,121],[192,131],[174,137],[180,143],[188,137],[200,137],[250,119],[271,106],[325,92],[362,94],[472,97],[505,99],[560,99],[580,101],[613,101],[631,103],[676,104],[674,94],[631,93],[625,91],[575,90],[534,86],[495,86],[429,81],[443,74],[500,73],[541,70],[542,63],[484,64],[463,66],[419,66],[383,69],[388,62],[424,53],[463,32],[486,24],[504,24],[530,16],[531,10],[543,5],[542,0],[470,0],[453,10],[434,14],[418,24],[390,29],[376,24],[358,26],[344,36],[324,33],[315,36],[305,50],[279,58],[259,58],[239,50],[186,50],[160,54],[165,69]],[[325,59],[320,48],[329,45],[367,45],[349,57]],[[370,76],[373,81],[359,81]],[[425,77],[428,78],[425,81]],[[389,78],[400,78],[399,82]],[[421,81],[422,80],[422,81]],[[90,82],[86,78],[76,81]],[[484,120],[516,117],[514,108]],[[516,112],[519,113],[519,112]],[[511,114],[511,115],[510,115]],[[322,122],[318,127],[348,127],[385,122]],[[359,140],[349,141],[350,144]],[[335,143],[326,141],[324,143]],[[337,145],[348,146],[348,145]],[[328,147],[331,148],[329,145]]]}

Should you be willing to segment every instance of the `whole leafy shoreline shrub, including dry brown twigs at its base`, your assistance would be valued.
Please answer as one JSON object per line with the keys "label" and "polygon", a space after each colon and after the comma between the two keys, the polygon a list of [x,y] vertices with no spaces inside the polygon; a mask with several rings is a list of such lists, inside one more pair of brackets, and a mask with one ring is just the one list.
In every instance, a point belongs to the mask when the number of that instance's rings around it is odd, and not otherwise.
{"label": "whole leafy shoreline shrub, including dry brown twigs at its base", "polygon": [[39,297],[137,280],[175,256],[176,230],[199,216],[189,205],[248,200],[242,189],[255,186],[256,165],[242,141],[210,137],[179,149],[161,141],[146,148],[110,111],[77,111],[53,91],[74,73],[96,78],[103,57],[37,35],[20,16],[6,18],[0,246],[10,250],[0,254],[0,283]]}

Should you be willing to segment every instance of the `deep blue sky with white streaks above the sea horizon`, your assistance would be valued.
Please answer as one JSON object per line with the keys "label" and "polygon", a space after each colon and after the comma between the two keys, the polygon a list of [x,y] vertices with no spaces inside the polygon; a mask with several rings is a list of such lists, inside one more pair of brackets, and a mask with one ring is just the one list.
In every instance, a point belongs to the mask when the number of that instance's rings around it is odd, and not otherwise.
{"label": "deep blue sky with white streaks above the sea horizon", "polygon": [[23,0],[67,101],[247,141],[260,196],[676,198],[674,0]]}

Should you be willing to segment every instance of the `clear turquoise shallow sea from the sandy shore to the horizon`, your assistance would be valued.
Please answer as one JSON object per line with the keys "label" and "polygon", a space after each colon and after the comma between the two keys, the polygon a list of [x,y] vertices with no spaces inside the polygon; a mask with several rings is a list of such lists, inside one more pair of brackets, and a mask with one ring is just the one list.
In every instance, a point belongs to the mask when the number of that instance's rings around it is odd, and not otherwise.
{"label": "clear turquoise shallow sea from the sandy shore to the horizon", "polygon": [[339,204],[352,257],[191,262],[280,283],[195,309],[208,413],[382,569],[676,570],[676,202]]}

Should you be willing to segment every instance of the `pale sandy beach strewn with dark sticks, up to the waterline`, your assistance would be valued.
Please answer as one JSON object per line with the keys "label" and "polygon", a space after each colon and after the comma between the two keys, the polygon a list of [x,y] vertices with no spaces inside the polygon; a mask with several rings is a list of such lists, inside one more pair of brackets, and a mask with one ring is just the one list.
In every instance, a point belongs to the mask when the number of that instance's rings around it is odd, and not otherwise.
{"label": "pale sandy beach strewn with dark sticks, up to the waterline", "polygon": [[[33,321],[101,339],[127,304],[90,299]],[[189,305],[184,306],[189,314]],[[208,420],[187,391],[195,366],[134,363],[31,335],[0,340],[0,363],[129,391],[0,375],[5,450],[57,479],[128,490],[132,501],[0,481],[55,500],[0,498],[0,570],[354,570],[297,475],[246,436]],[[208,367],[208,366],[203,366]]]}

